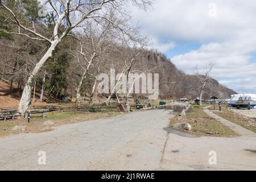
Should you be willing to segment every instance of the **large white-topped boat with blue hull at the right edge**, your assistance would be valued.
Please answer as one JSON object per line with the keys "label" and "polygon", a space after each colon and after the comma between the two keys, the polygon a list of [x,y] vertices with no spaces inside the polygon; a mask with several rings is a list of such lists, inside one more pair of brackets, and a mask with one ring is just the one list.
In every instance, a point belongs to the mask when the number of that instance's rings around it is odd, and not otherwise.
{"label": "large white-topped boat with blue hull at the right edge", "polygon": [[251,108],[256,108],[256,94],[234,94],[231,96],[228,104],[232,107],[237,107],[238,102],[241,102],[239,100],[250,100],[250,106]]}

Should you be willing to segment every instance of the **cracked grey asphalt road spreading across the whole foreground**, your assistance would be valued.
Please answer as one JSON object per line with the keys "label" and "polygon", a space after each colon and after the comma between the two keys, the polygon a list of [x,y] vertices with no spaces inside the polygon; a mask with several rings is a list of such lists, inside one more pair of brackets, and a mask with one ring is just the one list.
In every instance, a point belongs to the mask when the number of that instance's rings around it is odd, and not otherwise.
{"label": "cracked grey asphalt road spreading across the whole foreground", "polygon": [[166,128],[170,118],[170,110],[150,110],[0,139],[0,169],[256,170],[255,137],[195,137]]}

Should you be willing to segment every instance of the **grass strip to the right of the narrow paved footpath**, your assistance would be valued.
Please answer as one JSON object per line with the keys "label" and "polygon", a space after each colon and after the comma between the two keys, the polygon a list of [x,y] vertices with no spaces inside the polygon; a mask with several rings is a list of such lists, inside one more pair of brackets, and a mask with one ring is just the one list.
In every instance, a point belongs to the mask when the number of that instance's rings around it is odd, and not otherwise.
{"label": "grass strip to the right of the narrow paved footpath", "polygon": [[228,121],[234,122],[237,125],[245,127],[248,130],[256,133],[256,119],[255,118],[247,118],[242,114],[234,113],[231,110],[228,110],[228,107],[222,107],[222,112],[214,111],[214,114],[227,119]]}

